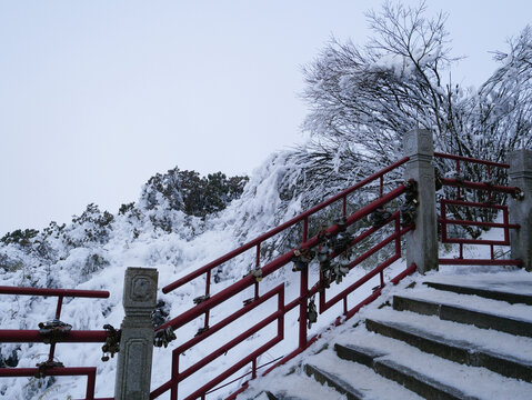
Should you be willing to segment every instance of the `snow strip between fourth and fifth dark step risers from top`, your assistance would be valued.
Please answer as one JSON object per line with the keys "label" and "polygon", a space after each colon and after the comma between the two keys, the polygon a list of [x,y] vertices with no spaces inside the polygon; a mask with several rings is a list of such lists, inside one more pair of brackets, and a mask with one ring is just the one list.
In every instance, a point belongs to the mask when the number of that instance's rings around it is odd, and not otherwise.
{"label": "snow strip between fourth and fifth dark step risers from top", "polygon": [[403,388],[401,384],[388,380],[371,368],[357,362],[340,359],[332,349],[325,349],[318,354],[308,357],[304,362],[318,367],[341,380],[349,382],[358,392],[368,400],[421,400],[414,392]]}

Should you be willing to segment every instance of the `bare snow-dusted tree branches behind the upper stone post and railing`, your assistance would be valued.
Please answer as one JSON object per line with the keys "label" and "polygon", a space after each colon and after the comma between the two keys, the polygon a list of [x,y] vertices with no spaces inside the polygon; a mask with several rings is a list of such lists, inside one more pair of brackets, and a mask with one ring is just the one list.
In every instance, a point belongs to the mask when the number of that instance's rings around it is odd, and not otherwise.
{"label": "bare snow-dusted tree branches behind the upper stone post and railing", "polygon": [[[508,51],[496,52],[500,67],[476,90],[451,80],[459,60],[451,54],[445,19],[444,13],[428,18],[424,3],[387,2],[380,12],[368,13],[373,36],[367,44],[333,39],[305,67],[310,113],[304,129],[311,141],[299,156],[314,160],[317,174],[323,159],[350,166],[350,178],[384,168],[401,158],[403,134],[416,128],[433,132],[436,151],[492,161],[532,147],[531,28],[511,40]],[[455,166],[438,161],[438,168],[443,174]],[[466,164],[462,173],[488,180],[485,167]],[[506,183],[496,169],[491,178]],[[485,193],[465,194],[485,200]],[[460,219],[494,218],[485,209],[451,211]]]}

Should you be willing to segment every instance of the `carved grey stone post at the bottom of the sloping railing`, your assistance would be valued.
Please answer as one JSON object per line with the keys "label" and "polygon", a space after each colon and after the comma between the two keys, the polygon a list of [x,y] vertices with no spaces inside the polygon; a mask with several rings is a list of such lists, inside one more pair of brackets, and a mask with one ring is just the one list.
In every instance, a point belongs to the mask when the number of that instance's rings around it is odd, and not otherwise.
{"label": "carved grey stone post at the bottom of the sloping railing", "polygon": [[116,400],[150,397],[153,326],[158,272],[152,268],[128,268],[123,286],[122,336],[118,353]]}

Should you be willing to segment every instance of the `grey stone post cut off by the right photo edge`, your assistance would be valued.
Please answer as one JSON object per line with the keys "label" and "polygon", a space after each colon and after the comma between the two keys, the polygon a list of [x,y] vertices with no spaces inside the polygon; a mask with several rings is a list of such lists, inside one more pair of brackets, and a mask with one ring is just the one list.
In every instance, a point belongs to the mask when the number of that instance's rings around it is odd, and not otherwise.
{"label": "grey stone post cut off by the right photo edge", "polygon": [[532,271],[532,150],[515,150],[508,158],[510,186],[521,189],[524,196],[522,200],[508,200],[510,223],[521,226],[510,230],[512,259],[521,259],[526,271]]}

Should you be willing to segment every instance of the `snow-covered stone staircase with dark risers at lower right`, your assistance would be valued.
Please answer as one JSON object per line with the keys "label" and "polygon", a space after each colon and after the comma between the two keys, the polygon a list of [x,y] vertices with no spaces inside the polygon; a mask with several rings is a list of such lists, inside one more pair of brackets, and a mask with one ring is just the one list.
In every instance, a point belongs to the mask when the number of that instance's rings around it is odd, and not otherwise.
{"label": "snow-covered stone staircase with dark risers at lower right", "polygon": [[532,399],[530,273],[434,274],[364,317],[257,399]]}

